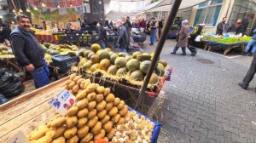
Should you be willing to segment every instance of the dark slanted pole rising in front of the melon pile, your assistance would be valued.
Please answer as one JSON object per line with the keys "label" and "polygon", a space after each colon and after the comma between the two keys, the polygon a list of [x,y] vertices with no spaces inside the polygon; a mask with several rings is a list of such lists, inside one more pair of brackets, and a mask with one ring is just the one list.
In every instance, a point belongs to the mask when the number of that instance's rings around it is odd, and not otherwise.
{"label": "dark slanted pole rising in front of the melon pile", "polygon": [[153,57],[151,65],[149,67],[147,76],[145,77],[145,80],[144,80],[144,83],[143,83],[143,87],[142,87],[142,89],[140,91],[140,94],[138,96],[135,109],[137,109],[141,105],[144,92],[147,89],[150,77],[151,77],[152,73],[154,72],[154,67],[156,66],[157,61],[158,61],[158,59],[160,57],[160,53],[161,53],[161,51],[162,51],[162,49],[164,47],[164,44],[166,42],[166,37],[167,37],[168,31],[169,31],[169,29],[172,26],[173,20],[174,20],[176,14],[177,14],[177,10],[178,10],[179,5],[180,5],[181,2],[182,2],[182,0],[174,0],[174,2],[172,3],[172,9],[170,9],[171,11],[170,11],[170,14],[168,15],[168,19],[166,21],[166,26],[164,27],[164,30],[163,30],[163,32],[162,32],[162,34],[160,36],[160,41],[157,44],[156,49],[154,51],[154,57]]}

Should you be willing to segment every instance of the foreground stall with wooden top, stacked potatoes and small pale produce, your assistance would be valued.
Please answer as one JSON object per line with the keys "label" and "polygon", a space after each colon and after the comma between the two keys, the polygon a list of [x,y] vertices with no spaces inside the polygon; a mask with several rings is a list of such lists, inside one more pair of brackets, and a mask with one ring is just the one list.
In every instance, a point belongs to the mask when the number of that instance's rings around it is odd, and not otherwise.
{"label": "foreground stall with wooden top, stacked potatoes and small pale produce", "polygon": [[[67,92],[65,89],[74,94],[76,103],[69,102],[69,108],[61,115],[55,110],[53,98]],[[0,111],[4,115],[0,125],[3,142],[22,132],[31,142],[103,139],[113,143],[119,140],[156,143],[161,126],[126,106],[112,94],[112,89],[74,74],[12,100],[0,106]]]}

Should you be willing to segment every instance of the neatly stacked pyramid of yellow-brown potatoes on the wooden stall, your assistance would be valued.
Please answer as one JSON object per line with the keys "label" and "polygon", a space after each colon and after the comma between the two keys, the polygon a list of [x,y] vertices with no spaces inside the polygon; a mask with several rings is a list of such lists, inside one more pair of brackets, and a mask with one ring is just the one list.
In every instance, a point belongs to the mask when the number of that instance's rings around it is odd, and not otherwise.
{"label": "neatly stacked pyramid of yellow-brown potatoes on the wooden stall", "polygon": [[109,88],[72,74],[66,89],[76,96],[76,104],[67,116],[56,115],[46,125],[38,126],[29,135],[36,143],[92,143],[112,140],[117,127],[125,124],[128,106],[115,98]]}

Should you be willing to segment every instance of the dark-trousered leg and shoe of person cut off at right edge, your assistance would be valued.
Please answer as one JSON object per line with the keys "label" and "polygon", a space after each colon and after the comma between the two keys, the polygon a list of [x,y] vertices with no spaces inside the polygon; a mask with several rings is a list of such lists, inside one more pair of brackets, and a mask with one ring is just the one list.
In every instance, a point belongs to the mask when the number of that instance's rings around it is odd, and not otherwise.
{"label": "dark-trousered leg and shoe of person cut off at right edge", "polygon": [[[242,83],[238,83],[238,85],[241,87],[241,89],[247,89],[249,86],[249,83],[253,80],[254,74],[256,73],[256,52],[253,54],[253,61],[251,63],[251,66],[247,72],[246,77],[243,78]],[[256,92],[256,89],[255,89]]]}

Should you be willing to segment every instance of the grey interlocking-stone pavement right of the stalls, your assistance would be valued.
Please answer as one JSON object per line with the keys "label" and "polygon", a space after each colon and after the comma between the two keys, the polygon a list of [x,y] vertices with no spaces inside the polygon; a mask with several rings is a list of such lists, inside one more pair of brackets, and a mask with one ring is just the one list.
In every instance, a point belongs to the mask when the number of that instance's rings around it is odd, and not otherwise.
{"label": "grey interlocking-stone pavement right of the stalls", "polygon": [[256,77],[248,90],[237,86],[248,67],[204,50],[171,55],[174,45],[166,41],[161,54],[173,72],[164,86],[158,142],[256,142]]}

